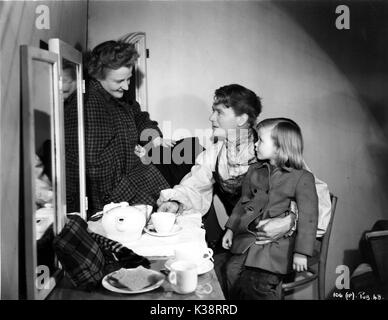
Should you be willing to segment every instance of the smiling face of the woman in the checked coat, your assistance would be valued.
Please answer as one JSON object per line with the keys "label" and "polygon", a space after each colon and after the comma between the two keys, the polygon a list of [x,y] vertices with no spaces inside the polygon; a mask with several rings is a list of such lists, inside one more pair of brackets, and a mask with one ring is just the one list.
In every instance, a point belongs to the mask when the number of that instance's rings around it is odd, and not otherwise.
{"label": "smiling face of the woman in the checked coat", "polygon": [[121,67],[117,70],[107,69],[105,79],[99,79],[102,87],[115,98],[122,98],[132,76],[132,67]]}

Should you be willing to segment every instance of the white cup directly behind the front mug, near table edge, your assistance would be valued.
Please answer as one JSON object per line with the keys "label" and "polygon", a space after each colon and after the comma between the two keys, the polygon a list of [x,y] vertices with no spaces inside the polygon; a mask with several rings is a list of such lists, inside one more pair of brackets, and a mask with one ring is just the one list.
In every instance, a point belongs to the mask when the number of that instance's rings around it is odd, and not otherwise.
{"label": "white cup directly behind the front mug, near table edge", "polygon": [[184,243],[175,248],[175,260],[185,260],[200,267],[204,262],[213,258],[213,250],[198,243]]}

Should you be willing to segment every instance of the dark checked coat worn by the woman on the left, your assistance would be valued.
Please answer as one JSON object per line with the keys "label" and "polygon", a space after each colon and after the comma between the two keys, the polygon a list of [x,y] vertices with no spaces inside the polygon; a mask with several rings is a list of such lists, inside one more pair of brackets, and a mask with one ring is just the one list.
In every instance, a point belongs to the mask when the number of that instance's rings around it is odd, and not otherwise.
{"label": "dark checked coat worn by the woman on the left", "polygon": [[114,98],[96,80],[88,84],[84,105],[88,216],[110,202],[155,205],[169,185],[134,150],[144,129],[154,129],[152,139],[161,135],[157,122],[136,101]]}

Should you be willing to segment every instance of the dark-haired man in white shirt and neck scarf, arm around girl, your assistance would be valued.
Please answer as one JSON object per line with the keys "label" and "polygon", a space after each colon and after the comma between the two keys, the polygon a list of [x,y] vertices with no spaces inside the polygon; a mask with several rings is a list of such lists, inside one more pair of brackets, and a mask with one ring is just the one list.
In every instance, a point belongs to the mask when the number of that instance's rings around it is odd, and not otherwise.
{"label": "dark-haired man in white shirt and neck scarf, arm around girl", "polygon": [[[242,180],[248,167],[255,163],[256,133],[253,129],[261,112],[261,102],[256,94],[238,84],[223,86],[215,91],[213,112],[210,116],[214,145],[196,159],[191,172],[173,189],[163,190],[157,201],[159,211],[193,211],[204,218],[206,238],[216,250],[215,269],[223,281],[225,259],[228,253],[221,247],[222,230],[214,210],[209,208],[213,194],[217,194],[230,215],[241,197]],[[318,228],[324,232],[330,216],[330,195],[322,181],[315,180],[319,197],[320,220]],[[294,215],[260,221],[257,225],[259,241],[271,241],[288,233],[295,224]],[[218,229],[218,230],[217,230]],[[212,230],[213,234],[209,234]],[[215,231],[214,231],[215,230]],[[225,288],[226,285],[222,284]],[[226,290],[224,290],[226,293]]]}

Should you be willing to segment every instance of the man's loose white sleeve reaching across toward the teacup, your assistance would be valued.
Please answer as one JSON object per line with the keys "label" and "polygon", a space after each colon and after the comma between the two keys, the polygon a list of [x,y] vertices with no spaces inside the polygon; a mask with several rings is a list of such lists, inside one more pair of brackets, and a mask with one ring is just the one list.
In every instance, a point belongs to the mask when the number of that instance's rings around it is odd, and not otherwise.
{"label": "man's loose white sleeve reaching across toward the teacup", "polygon": [[194,210],[205,215],[213,198],[213,171],[219,148],[217,145],[201,152],[191,171],[179,185],[161,192],[163,201],[174,200],[183,205],[183,210]]}

